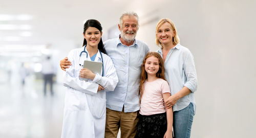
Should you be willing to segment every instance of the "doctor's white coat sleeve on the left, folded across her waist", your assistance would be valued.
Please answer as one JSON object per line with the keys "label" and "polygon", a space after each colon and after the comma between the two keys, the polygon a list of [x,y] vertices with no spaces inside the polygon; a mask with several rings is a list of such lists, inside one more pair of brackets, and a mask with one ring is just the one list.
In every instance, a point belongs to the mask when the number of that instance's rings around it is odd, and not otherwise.
{"label": "doctor's white coat sleeve on the left, folded across her waist", "polygon": [[69,68],[66,68],[66,73],[63,76],[63,85],[79,90],[82,93],[95,96],[97,94],[99,84],[80,80],[78,77],[75,77],[74,50],[69,53],[68,59],[72,65]]}

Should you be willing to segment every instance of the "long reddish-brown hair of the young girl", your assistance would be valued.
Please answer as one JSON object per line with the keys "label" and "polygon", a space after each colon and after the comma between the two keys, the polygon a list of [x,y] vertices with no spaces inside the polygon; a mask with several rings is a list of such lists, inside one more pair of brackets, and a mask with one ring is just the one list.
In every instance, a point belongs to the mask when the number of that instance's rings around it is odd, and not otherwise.
{"label": "long reddish-brown hair of the young girl", "polygon": [[145,62],[146,62],[146,59],[149,58],[149,57],[156,57],[158,58],[158,61],[159,61],[159,70],[156,74],[157,78],[161,78],[161,79],[164,79],[164,66],[163,66],[163,59],[161,58],[161,56],[156,53],[156,52],[148,52],[143,60],[143,63],[141,65],[141,74],[140,74],[140,89],[139,89],[139,103],[141,102],[141,98],[142,98],[142,95],[143,95],[143,90],[144,90],[144,82],[145,80],[147,79],[147,73],[145,71]]}

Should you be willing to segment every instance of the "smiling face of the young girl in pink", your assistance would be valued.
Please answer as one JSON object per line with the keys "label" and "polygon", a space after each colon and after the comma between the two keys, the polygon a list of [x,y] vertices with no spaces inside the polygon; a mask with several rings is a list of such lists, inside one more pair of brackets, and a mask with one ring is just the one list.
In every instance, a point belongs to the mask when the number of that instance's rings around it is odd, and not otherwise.
{"label": "smiling face of the young girl in pink", "polygon": [[159,60],[155,56],[148,57],[145,61],[147,76],[156,76],[159,70]]}

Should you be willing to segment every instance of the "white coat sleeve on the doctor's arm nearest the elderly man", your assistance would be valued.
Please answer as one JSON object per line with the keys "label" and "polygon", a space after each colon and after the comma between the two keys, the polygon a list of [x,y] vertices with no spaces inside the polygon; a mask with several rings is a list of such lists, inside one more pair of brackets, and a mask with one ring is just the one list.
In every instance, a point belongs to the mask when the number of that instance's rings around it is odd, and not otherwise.
{"label": "white coat sleeve on the doctor's arm nearest the elderly man", "polygon": [[106,91],[113,91],[118,83],[116,68],[109,56],[104,55],[104,76],[96,74],[92,82],[100,84]]}

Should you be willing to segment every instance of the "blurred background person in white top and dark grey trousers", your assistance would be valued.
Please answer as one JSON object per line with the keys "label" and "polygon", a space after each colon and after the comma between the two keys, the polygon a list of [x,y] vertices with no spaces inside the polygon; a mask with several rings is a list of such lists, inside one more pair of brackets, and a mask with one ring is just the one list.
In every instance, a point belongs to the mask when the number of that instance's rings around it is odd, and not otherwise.
{"label": "blurred background person in white top and dark grey trousers", "polygon": [[47,56],[42,61],[42,75],[44,77],[44,95],[46,96],[47,84],[50,84],[51,95],[53,95],[53,76],[54,76],[54,64],[51,60],[51,56]]}

